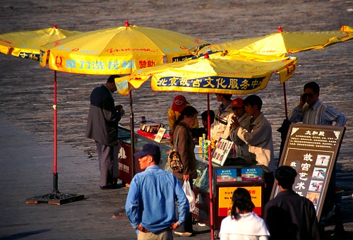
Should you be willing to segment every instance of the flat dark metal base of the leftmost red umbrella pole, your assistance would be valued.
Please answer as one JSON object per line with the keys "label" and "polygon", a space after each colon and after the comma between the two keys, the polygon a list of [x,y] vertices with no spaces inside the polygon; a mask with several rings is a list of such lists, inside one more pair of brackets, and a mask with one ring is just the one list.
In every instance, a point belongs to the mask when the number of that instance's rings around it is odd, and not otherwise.
{"label": "flat dark metal base of the leftmost red umbrella pole", "polygon": [[64,203],[71,203],[78,200],[83,200],[84,195],[78,195],[75,193],[60,193],[58,190],[58,174],[53,176],[54,188],[52,193],[47,193],[42,196],[34,196],[32,198],[27,198],[25,203],[49,203],[61,205]]}

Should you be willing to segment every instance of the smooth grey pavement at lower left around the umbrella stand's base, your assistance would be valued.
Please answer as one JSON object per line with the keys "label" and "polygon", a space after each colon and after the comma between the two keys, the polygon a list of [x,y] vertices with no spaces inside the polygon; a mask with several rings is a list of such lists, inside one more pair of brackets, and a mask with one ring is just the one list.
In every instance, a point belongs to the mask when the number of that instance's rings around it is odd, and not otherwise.
{"label": "smooth grey pavement at lower left around the umbrella stand's base", "polygon": [[[102,191],[97,161],[68,144],[58,147],[59,191],[84,195],[63,205],[26,204],[53,190],[53,146],[14,126],[0,114],[0,239],[136,239],[124,208],[128,188]],[[208,239],[208,227],[193,239]],[[179,237],[178,239],[183,239]]]}

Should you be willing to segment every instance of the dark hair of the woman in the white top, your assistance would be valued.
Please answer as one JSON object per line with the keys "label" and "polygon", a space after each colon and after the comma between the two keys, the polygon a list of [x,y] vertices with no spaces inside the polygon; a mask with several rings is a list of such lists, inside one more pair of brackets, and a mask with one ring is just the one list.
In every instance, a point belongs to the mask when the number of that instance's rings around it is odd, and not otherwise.
{"label": "dark hair of the woman in the white top", "polygon": [[232,210],[230,210],[232,219],[238,218],[237,208],[240,212],[252,212],[255,208],[255,205],[251,201],[251,195],[249,191],[246,190],[246,188],[237,188],[237,190],[234,191],[232,196],[232,203]]}

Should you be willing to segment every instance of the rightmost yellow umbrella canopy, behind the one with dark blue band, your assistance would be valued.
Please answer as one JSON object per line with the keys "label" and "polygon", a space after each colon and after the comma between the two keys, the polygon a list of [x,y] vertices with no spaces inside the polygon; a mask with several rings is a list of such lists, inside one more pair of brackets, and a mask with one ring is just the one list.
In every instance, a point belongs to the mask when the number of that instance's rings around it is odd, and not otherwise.
{"label": "rightmost yellow umbrella canopy, behind the one with dark blue band", "polygon": [[[346,28],[347,30],[349,29],[347,26]],[[263,55],[284,56],[285,54],[292,54],[309,49],[323,49],[330,44],[344,42],[352,38],[352,32],[284,32],[282,28],[278,28],[276,33],[263,37],[211,44],[201,49],[201,52],[214,52],[227,49]]]}

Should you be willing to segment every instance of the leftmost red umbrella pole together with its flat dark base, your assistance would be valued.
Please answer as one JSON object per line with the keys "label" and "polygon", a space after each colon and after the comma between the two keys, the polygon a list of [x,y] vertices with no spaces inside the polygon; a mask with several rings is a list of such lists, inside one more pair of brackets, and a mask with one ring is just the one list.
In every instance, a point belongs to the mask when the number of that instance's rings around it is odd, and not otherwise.
{"label": "leftmost red umbrella pole together with its flat dark base", "polygon": [[53,167],[53,191],[42,196],[34,196],[27,198],[25,203],[49,203],[61,205],[71,203],[77,200],[83,200],[85,196],[74,193],[60,193],[58,189],[58,172],[57,172],[57,113],[56,113],[56,71],[54,71],[54,167]]}

